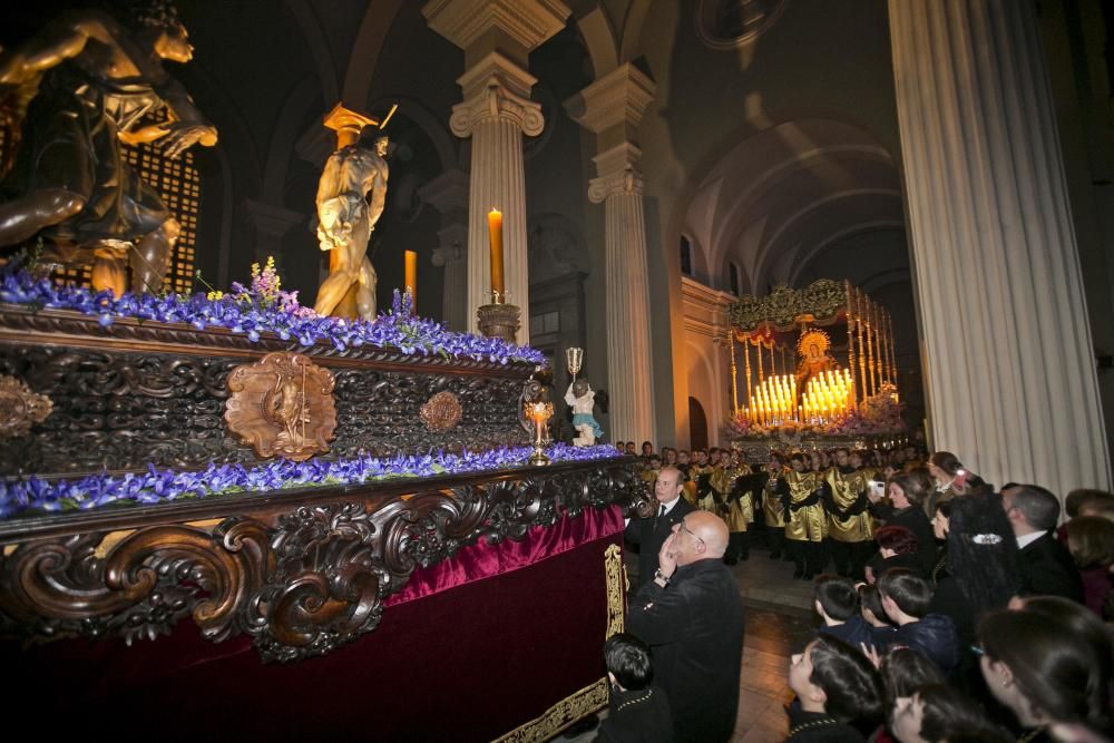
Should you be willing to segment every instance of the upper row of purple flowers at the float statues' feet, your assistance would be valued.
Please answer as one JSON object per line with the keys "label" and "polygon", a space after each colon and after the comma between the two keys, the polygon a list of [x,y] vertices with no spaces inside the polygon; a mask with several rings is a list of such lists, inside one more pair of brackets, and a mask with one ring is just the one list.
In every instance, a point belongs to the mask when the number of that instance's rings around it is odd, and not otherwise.
{"label": "upper row of purple flowers at the float statues' feet", "polygon": [[[243,294],[240,295],[241,297]],[[338,351],[361,345],[398,349],[407,355],[440,354],[446,358],[473,359],[507,364],[511,361],[547,364],[545,354],[537,349],[519,346],[498,338],[482,338],[455,333],[433,320],[417,317],[410,305],[410,295],[394,302],[388,313],[380,313],[374,322],[321,317],[296,302],[247,302],[236,296],[208,299],[197,293],[193,296],[168,294],[125,293],[116,297],[111,292],[94,293],[70,284],[59,286],[49,278],[36,278],[18,264],[11,263],[0,281],[0,302],[43,310],[72,310],[95,315],[108,327],[115,317],[135,317],[163,323],[188,323],[197,330],[213,325],[244,333],[256,342],[263,333],[273,333],[284,341],[294,339],[303,346],[330,343]]]}

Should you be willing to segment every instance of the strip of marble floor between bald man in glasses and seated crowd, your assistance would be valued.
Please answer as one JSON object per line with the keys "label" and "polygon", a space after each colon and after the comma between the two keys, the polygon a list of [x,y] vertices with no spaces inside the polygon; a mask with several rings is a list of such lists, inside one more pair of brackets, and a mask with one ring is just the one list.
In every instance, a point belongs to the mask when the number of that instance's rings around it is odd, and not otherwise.
{"label": "strip of marble floor between bald man in glasses and seated crowd", "polygon": [[[634,576],[636,556],[627,555]],[[812,581],[794,580],[793,564],[772,560],[765,549],[732,566],[746,614],[743,668],[739,685],[739,718],[733,743],[780,743],[789,725],[784,705],[792,698],[786,683],[790,656],[815,636]],[[559,736],[559,743],[587,743],[596,732]]]}

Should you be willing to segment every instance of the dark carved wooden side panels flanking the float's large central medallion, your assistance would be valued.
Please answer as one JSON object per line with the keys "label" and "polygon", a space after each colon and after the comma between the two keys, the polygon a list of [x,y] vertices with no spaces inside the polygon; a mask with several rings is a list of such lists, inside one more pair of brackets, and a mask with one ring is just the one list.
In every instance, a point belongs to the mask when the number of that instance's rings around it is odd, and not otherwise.
{"label": "dark carved wooden side panels flanking the float's large central medallion", "polygon": [[[0,314],[0,322],[4,317]],[[204,355],[17,346],[0,338],[0,374],[33,379],[36,391],[53,401],[46,421],[0,447],[0,473],[255,462],[256,453],[222,418],[231,395],[228,377],[244,358],[201,351]],[[528,441],[516,404],[527,371],[489,364],[482,374],[436,368],[416,373],[370,361],[363,363],[371,368],[333,368],[328,358],[306,355],[329,363],[333,372],[336,429],[330,447],[335,456],[495,449]],[[441,391],[457,398],[461,417],[455,428],[434,433],[420,410]]]}

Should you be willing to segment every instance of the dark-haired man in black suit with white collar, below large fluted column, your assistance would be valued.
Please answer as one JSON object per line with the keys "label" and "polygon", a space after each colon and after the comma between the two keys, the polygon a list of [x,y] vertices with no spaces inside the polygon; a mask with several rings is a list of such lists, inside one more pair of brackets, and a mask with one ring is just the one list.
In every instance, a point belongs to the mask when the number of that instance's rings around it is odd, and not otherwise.
{"label": "dark-haired man in black suit with white collar, below large fluted column", "polygon": [[1035,485],[1007,486],[1001,507],[1017,537],[1018,563],[1025,593],[1063,596],[1083,603],[1083,580],[1071,553],[1056,540],[1059,500]]}

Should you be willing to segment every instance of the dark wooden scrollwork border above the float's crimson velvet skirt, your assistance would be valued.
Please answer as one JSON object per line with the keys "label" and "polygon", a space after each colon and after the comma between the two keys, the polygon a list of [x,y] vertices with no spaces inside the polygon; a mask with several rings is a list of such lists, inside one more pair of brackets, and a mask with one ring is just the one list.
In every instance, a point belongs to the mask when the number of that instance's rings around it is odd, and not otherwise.
{"label": "dark wooden scrollwork border above the float's crimson velvet skirt", "polygon": [[373,630],[416,569],[481,537],[518,540],[563,512],[646,500],[627,467],[472,476],[385,502],[371,489],[268,519],[229,516],[212,531],[156,524],[110,541],[104,531],[29,539],[0,556],[0,634],[130,643],[190,617],[213,642],[250,635],[264,661],[323,655]]}

